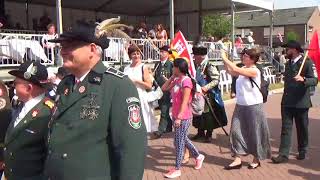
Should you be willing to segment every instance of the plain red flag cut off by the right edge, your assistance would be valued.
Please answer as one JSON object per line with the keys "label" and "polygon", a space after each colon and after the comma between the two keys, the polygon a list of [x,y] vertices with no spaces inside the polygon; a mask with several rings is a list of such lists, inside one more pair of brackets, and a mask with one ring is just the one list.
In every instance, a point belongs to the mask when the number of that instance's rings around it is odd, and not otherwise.
{"label": "plain red flag cut off by the right edge", "polygon": [[309,45],[309,58],[314,62],[320,80],[320,44],[318,32],[315,31]]}

